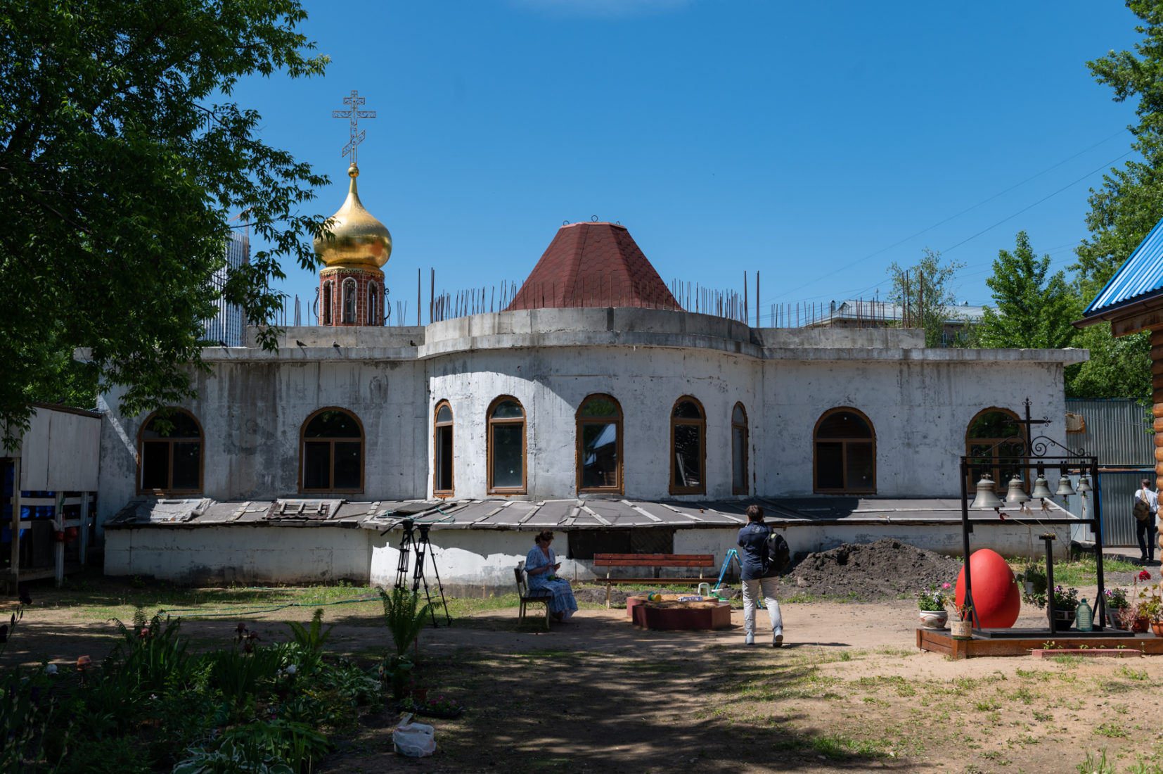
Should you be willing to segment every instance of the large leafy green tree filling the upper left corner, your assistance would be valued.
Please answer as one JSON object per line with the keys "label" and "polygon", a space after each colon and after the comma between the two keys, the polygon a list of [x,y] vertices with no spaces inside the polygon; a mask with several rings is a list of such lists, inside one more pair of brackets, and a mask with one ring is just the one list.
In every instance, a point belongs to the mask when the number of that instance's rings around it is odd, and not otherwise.
{"label": "large leafy green tree filling the upper left corner", "polygon": [[[192,395],[229,216],[271,246],[223,294],[250,320],[305,268],[327,182],[257,137],[240,78],[321,74],[298,0],[8,0],[0,5],[0,425],[28,403],[124,385],[127,414]],[[262,334],[276,346],[276,332]],[[91,364],[72,365],[74,348]],[[90,404],[92,405],[92,404]]]}

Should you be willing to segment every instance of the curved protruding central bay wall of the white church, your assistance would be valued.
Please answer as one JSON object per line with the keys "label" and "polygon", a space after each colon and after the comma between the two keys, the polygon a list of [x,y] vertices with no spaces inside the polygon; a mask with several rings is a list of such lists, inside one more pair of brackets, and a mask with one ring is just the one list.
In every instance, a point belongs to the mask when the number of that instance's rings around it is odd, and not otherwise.
{"label": "curved protruding central bay wall of the white church", "polygon": [[[435,406],[452,407],[457,497],[487,493],[488,406],[509,395],[526,411],[526,468],[529,497],[569,497],[577,491],[577,410],[586,396],[604,392],[622,407],[623,480],[628,496],[670,497],[670,414],[692,396],[706,412],[707,493],[676,499],[730,497],[730,416],[742,402],[758,416],[758,362],[699,349],[658,347],[478,350],[429,361],[428,438]],[[752,459],[754,459],[752,454]],[[431,454],[426,459],[431,493]]]}

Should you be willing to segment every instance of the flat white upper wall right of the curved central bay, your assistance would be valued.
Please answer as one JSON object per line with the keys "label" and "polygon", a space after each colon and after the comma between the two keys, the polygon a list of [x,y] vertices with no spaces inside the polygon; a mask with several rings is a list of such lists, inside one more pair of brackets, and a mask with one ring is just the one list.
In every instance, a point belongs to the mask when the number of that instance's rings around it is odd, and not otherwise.
{"label": "flat white upper wall right of the curved central bay", "polygon": [[[1056,363],[963,361],[765,361],[758,491],[813,491],[813,432],[829,409],[863,412],[876,435],[877,495],[944,497],[961,491],[965,432],[985,409],[1023,416],[1022,400],[1053,424],[1035,433],[1064,442],[1065,399]],[[1004,483],[1003,483],[1004,485]]]}

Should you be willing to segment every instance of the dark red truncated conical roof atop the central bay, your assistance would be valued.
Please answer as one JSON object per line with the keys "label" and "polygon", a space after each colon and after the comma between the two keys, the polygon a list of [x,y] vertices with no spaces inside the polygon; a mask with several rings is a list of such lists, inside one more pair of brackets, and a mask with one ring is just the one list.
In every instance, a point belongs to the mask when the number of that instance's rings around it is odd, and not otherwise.
{"label": "dark red truncated conical roof atop the central bay", "polygon": [[618,223],[562,226],[506,311],[575,306],[682,310]]}

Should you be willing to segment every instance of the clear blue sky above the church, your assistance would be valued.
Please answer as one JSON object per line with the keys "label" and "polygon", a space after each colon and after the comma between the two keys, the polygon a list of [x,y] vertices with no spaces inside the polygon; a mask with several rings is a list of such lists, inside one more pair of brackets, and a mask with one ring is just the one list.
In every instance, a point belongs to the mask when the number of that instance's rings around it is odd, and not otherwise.
{"label": "clear blue sky above the church", "polygon": [[[1073,262],[1087,190],[1132,141],[1134,106],[1085,66],[1137,40],[1112,0],[305,7],[327,76],[234,98],[331,178],[308,206],[322,215],[347,187],[331,111],[368,100],[359,192],[392,232],[390,301],[412,324],[418,269],[426,308],[430,268],[437,290],[520,283],[563,221],[593,215],[668,282],[742,291],[745,271],[754,293],[761,271],[764,315],[885,294],[887,265],[926,247],[966,264],[958,300],[987,304],[1018,230]],[[316,277],[285,269],[309,306]]]}

